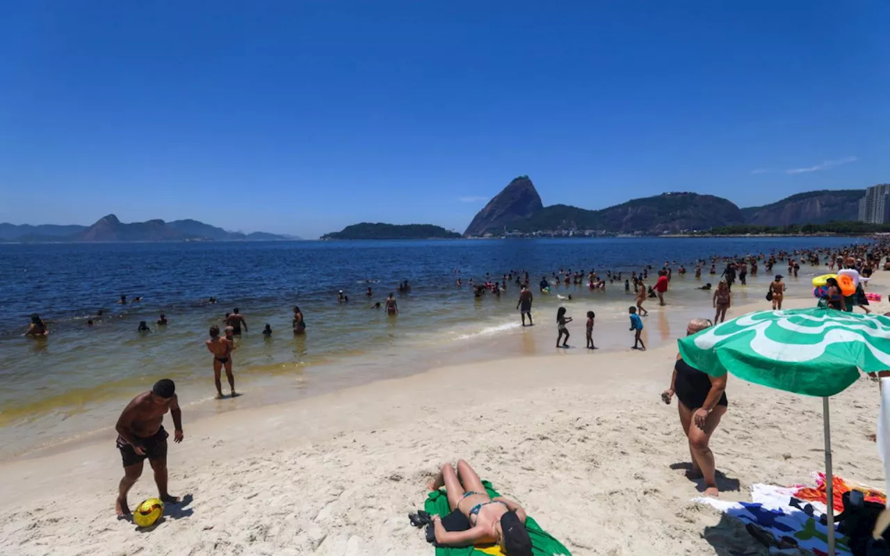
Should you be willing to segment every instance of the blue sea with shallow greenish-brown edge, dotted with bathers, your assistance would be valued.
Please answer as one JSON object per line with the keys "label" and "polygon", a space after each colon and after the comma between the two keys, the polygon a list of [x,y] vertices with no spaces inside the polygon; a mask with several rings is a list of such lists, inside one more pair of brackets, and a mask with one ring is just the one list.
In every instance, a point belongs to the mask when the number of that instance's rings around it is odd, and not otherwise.
{"label": "blue sea with shallow greenish-brown edge, dotted with bathers", "polygon": [[[0,456],[53,444],[74,434],[109,426],[109,415],[158,378],[171,377],[195,411],[213,413],[256,403],[274,403],[348,387],[376,378],[510,354],[534,354],[515,311],[518,288],[500,298],[473,297],[469,278],[492,280],[510,270],[528,270],[536,294],[538,324],[553,320],[555,294],[572,294],[577,330],[584,311],[597,311],[597,326],[626,325],[631,298],[623,283],[591,292],[559,286],[537,293],[542,275],[559,270],[658,269],[685,264],[675,273],[669,301],[673,318],[684,308],[710,307],[695,287],[716,277],[693,278],[694,262],[712,255],[743,256],[814,247],[840,247],[851,238],[603,238],[386,242],[258,242],[87,245],[0,245]],[[676,271],[676,265],[675,265]],[[718,269],[720,269],[718,265]],[[777,270],[784,273],[783,267]],[[806,266],[809,283],[819,269]],[[719,270],[718,270],[719,271]],[[457,287],[460,277],[463,287]],[[409,294],[396,286],[409,280]],[[749,280],[734,302],[762,299],[769,277]],[[650,278],[649,283],[653,283]],[[790,286],[793,286],[792,282]],[[371,286],[373,296],[366,296]],[[337,302],[344,290],[348,303]],[[396,293],[400,314],[371,308]],[[121,294],[141,303],[117,305]],[[216,304],[206,300],[214,295]],[[293,306],[303,310],[304,336],[290,329]],[[654,304],[654,303],[650,303]],[[211,356],[207,328],[222,327],[223,315],[239,307],[249,332],[234,353],[239,390],[247,395],[211,401]],[[95,318],[98,310],[102,318]],[[24,338],[28,315],[49,323],[45,340]],[[170,321],[154,325],[160,313]],[[95,326],[86,326],[87,318]],[[667,314],[657,341],[668,341]],[[138,334],[140,320],[154,332]],[[263,326],[273,329],[263,337]],[[583,335],[583,334],[579,334]],[[676,335],[676,334],[675,334]],[[574,338],[578,340],[578,336]],[[583,344],[583,338],[580,340]],[[549,342],[544,342],[548,344]],[[543,345],[543,344],[542,344]],[[228,391],[223,377],[223,391]],[[111,421],[113,423],[113,421]]]}

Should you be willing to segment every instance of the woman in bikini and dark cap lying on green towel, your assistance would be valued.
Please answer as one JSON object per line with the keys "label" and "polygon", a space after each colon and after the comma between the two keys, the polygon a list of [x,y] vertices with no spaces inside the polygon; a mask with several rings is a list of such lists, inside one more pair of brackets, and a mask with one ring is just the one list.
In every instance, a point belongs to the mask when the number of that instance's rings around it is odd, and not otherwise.
{"label": "woman in bikini and dark cap lying on green towel", "polygon": [[438,490],[445,487],[449,520],[465,518],[459,527],[449,523],[446,531],[441,516],[433,516],[436,543],[445,546],[471,546],[473,544],[499,544],[507,556],[530,556],[531,539],[525,529],[525,510],[503,496],[491,498],[486,494],[479,475],[469,463],[457,461],[457,473],[450,463],[442,466],[435,479],[427,487]]}

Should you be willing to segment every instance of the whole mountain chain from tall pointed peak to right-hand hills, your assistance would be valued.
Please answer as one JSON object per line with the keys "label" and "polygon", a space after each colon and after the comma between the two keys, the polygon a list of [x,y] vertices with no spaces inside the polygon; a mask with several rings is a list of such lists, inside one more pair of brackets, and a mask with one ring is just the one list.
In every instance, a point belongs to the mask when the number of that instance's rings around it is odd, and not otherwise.
{"label": "whole mountain chain from tall pointed peak to right-hand hills", "polygon": [[545,206],[529,176],[522,175],[510,181],[476,214],[464,235],[470,238],[659,236],[695,234],[733,226],[823,225],[856,220],[859,200],[864,196],[864,189],[823,189],[798,193],[770,205],[739,208],[723,197],[676,191],[590,210],[570,205]]}

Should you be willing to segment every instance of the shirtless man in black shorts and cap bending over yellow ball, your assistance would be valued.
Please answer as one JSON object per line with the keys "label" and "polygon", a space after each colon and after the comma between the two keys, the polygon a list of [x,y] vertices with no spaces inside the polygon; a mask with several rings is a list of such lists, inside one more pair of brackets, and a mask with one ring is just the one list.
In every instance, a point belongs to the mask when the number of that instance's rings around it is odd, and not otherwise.
{"label": "shirtless man in black shorts and cap bending over yellow ball", "polygon": [[146,458],[155,471],[158,498],[166,504],[179,502],[179,498],[170,496],[166,489],[166,439],[169,434],[161,426],[164,414],[169,411],[173,417],[174,442],[182,442],[182,411],[175,391],[172,380],[159,380],[150,391],[142,392],[127,404],[117,419],[117,449],[124,460],[124,478],[120,479],[115,502],[117,517],[130,515],[126,495],[142,475]]}

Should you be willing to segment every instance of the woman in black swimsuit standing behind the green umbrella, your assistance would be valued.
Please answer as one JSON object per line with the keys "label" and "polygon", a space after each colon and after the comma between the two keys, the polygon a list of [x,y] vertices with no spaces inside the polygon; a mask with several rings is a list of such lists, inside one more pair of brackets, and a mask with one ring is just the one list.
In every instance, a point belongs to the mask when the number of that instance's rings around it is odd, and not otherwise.
{"label": "woman in black swimsuit standing behind the green umbrella", "polygon": [[[686,326],[686,335],[711,326],[706,318],[693,318]],[[680,354],[676,356],[670,388],[661,394],[666,404],[676,394],[680,424],[689,439],[692,455],[690,479],[705,479],[705,496],[718,496],[714,453],[708,447],[711,435],[726,413],[726,375],[711,376],[691,367]]]}

